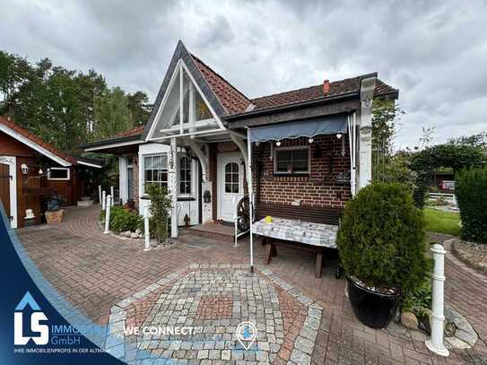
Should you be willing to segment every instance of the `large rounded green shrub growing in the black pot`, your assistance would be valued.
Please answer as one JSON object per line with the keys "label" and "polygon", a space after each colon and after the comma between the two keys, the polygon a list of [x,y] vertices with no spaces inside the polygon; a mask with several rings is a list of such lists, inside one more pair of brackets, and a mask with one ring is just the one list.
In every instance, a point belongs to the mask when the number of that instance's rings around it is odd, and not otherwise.
{"label": "large rounded green shrub growing in the black pot", "polygon": [[422,212],[402,185],[362,188],[345,206],[337,244],[345,272],[369,286],[407,293],[428,276]]}

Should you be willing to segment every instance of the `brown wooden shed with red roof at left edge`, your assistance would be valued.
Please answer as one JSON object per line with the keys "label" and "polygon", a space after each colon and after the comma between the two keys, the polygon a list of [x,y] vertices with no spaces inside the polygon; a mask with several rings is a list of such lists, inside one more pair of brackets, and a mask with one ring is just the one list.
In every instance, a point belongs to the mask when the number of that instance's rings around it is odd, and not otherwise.
{"label": "brown wooden shed with red roof at left edge", "polygon": [[12,228],[24,226],[27,209],[39,224],[46,196],[57,194],[72,205],[90,195],[88,177],[100,168],[100,161],[60,152],[0,117],[0,201]]}

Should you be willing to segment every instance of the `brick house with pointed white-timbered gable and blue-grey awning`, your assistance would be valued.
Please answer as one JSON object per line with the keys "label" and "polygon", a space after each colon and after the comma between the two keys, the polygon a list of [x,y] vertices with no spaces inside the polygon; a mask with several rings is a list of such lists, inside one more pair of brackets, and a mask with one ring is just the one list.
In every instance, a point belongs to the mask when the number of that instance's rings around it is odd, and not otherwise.
{"label": "brick house with pointed white-timbered gable and blue-grey awning", "polygon": [[179,41],[148,123],[83,147],[119,157],[140,213],[144,184],[167,186],[174,237],[185,216],[232,222],[248,188],[256,204],[342,208],[370,182],[374,97],[398,91],[375,73],[248,99]]}

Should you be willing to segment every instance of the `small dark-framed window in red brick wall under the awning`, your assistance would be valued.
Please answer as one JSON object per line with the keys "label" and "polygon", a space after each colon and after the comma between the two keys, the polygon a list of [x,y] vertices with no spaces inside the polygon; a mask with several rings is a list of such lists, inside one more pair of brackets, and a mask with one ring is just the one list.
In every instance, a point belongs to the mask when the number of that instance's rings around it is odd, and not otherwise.
{"label": "small dark-framed window in red brick wall under the awning", "polygon": [[280,148],[274,156],[274,173],[305,174],[309,173],[309,148]]}

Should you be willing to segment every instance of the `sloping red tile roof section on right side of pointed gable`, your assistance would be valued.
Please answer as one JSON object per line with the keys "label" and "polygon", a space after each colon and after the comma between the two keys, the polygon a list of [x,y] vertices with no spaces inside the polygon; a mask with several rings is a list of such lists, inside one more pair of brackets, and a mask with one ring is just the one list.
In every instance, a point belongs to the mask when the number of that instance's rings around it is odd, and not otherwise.
{"label": "sloping red tile roof section on right side of pointed gable", "polygon": [[203,74],[204,80],[210,85],[227,113],[229,115],[243,113],[250,104],[250,100],[226,81],[220,74],[215,73],[210,66],[204,64],[201,59],[195,55],[191,56]]}

